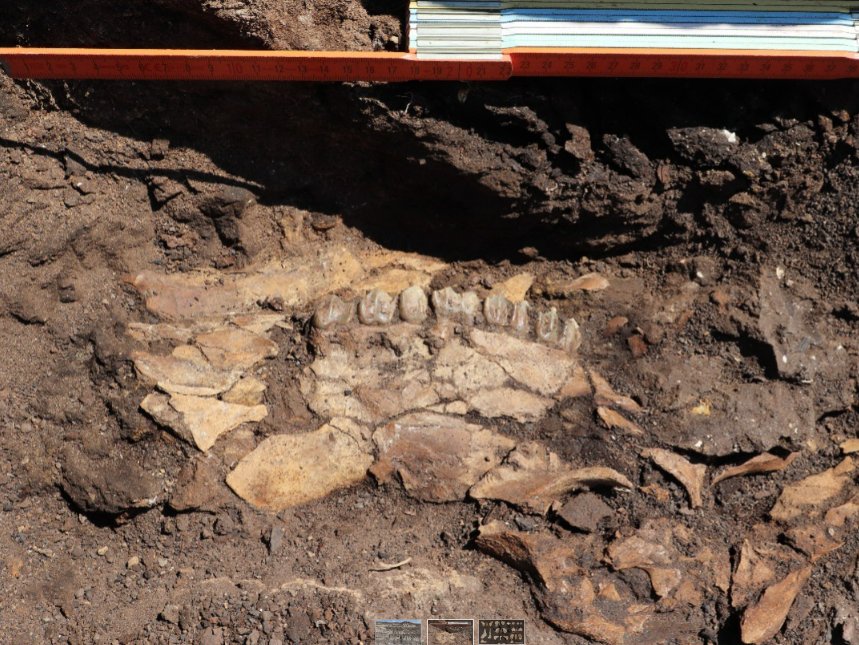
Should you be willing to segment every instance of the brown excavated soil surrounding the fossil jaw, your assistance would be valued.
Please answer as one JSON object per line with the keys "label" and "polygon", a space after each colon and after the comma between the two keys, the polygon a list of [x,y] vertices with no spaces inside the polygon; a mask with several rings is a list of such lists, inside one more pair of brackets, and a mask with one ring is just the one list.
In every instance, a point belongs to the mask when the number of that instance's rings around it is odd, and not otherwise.
{"label": "brown excavated soil surrounding the fossil jaw", "polygon": [[[4,45],[396,49],[405,12],[6,4]],[[534,644],[859,643],[856,83],[0,77],[0,223],[3,642],[357,644],[374,618],[523,618]],[[535,312],[578,321],[587,394],[465,419],[632,490],[440,499],[416,493],[444,483],[424,456],[297,506],[239,497],[237,462],[330,420],[303,385],[329,343],[362,365],[400,347],[314,330],[320,298],[251,302],[280,316],[267,416],[204,454],[140,407],[135,351],[172,345],[129,335],[165,319],[138,278],[203,271],[220,293],[308,249],[370,278],[420,258],[428,291],[481,298],[530,275]],[[189,289],[175,306],[208,306]],[[422,329],[430,354],[450,342]],[[763,453],[768,472],[714,481]]]}

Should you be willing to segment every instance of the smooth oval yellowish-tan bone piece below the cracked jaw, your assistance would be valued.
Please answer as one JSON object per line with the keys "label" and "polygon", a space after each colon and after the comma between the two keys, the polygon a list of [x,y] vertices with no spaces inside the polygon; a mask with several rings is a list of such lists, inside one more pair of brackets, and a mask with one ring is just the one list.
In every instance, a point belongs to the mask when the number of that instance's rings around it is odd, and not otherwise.
{"label": "smooth oval yellowish-tan bone piece below the cracked jaw", "polygon": [[318,430],[268,437],[227,475],[251,505],[280,511],[357,484],[373,463],[366,430],[332,419]]}

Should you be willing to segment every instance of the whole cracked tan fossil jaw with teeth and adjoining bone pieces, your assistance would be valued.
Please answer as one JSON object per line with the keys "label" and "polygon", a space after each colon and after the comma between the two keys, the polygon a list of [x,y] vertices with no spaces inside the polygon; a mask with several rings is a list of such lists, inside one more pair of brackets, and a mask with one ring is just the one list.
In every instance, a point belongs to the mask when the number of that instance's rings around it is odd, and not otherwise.
{"label": "whole cracked tan fossil jaw with teeth and adjoining bone pieces", "polygon": [[[128,330],[150,345],[133,355],[141,378],[157,389],[141,407],[203,452],[225,442],[236,464],[228,485],[271,511],[321,499],[368,472],[418,499],[453,501],[471,490],[538,513],[570,489],[607,480],[603,471],[528,461],[523,455],[544,449],[493,427],[494,420],[538,422],[563,399],[591,394],[575,356],[576,321],[562,323],[551,309],[534,325],[524,300],[529,276],[503,283],[485,301],[451,287],[427,297],[432,274],[443,266],[406,254],[359,261],[324,250],[220,277],[140,274],[134,284],[150,298],[150,310],[169,321]],[[270,298],[292,313],[260,311]],[[222,437],[268,416],[266,364],[284,350],[268,332],[280,326],[294,333],[290,318],[313,304],[316,331],[307,340],[314,358],[294,383],[315,420],[276,431],[256,447],[245,443],[236,454]],[[167,355],[165,342],[172,346]],[[607,384],[590,380],[611,398]],[[526,462],[530,470],[519,473]],[[559,473],[564,485],[537,486]]]}

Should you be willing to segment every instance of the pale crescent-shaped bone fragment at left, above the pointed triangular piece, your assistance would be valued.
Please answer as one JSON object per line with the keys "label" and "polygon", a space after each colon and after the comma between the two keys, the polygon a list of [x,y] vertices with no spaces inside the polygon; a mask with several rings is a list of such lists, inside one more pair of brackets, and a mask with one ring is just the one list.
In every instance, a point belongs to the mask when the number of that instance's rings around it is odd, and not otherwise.
{"label": "pale crescent-shaped bone fragment at left, above the pointed triangular piece", "polygon": [[236,370],[219,370],[176,356],[133,352],[131,358],[141,376],[170,394],[215,396],[229,390],[240,376]]}

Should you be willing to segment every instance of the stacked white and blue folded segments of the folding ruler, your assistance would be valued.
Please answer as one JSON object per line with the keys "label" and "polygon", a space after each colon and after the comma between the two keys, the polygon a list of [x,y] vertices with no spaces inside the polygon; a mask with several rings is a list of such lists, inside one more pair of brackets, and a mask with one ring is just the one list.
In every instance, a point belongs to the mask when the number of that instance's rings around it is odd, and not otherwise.
{"label": "stacked white and blue folded segments of the folding ruler", "polygon": [[587,4],[555,0],[414,0],[409,11],[409,47],[419,58],[464,59],[491,59],[517,48],[855,54],[859,52],[857,19],[859,5],[792,0],[593,0]]}

